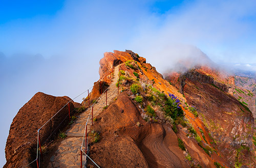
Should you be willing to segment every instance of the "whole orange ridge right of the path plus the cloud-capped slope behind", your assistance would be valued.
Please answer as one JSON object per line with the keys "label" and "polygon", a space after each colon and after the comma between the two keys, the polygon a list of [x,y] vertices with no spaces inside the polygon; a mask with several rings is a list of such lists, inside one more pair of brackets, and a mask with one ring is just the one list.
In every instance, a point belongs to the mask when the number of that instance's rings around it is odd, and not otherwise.
{"label": "whole orange ridge right of the path plus the cloud-capped slope behind", "polygon": [[[88,133],[88,155],[100,167],[256,166],[255,94],[236,86],[233,76],[197,65],[163,77],[131,50],[105,52],[99,64],[100,79],[120,70],[120,94]],[[90,160],[87,166],[95,167]]]}

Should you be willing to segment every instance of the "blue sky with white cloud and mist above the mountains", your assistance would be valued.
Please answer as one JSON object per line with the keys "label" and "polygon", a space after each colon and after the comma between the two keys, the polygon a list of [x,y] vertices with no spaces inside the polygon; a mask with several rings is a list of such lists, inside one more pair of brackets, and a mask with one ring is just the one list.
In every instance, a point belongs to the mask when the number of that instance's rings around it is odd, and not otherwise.
{"label": "blue sky with white cloud and mist above the mountains", "polygon": [[18,109],[39,91],[73,98],[90,88],[106,51],[134,50],[164,72],[197,47],[256,71],[255,9],[236,0],[1,1],[0,166]]}

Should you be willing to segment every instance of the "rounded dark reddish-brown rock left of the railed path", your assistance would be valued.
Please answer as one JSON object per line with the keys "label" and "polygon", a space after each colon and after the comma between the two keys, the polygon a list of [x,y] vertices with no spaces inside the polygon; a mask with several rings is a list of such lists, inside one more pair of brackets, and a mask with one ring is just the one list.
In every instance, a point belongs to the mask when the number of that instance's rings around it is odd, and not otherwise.
{"label": "rounded dark reddish-brown rock left of the railed path", "polygon": [[[57,111],[71,100],[69,97],[55,97],[41,92],[36,93],[14,117],[7,138],[5,153],[7,163],[4,167],[23,167],[36,158],[37,130]],[[73,111],[70,102],[70,111]],[[69,107],[64,107],[40,130],[40,139],[44,143],[52,131],[68,116]],[[68,122],[68,117],[67,117]],[[65,122],[63,122],[65,123]],[[66,124],[59,126],[61,129]],[[31,165],[31,167],[35,167]]]}

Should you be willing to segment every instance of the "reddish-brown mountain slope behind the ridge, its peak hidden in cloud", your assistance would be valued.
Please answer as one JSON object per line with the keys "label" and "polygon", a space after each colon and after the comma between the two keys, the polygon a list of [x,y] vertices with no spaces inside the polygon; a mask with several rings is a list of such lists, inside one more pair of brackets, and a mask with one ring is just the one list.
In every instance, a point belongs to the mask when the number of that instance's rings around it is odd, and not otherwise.
{"label": "reddish-brown mountain slope behind the ridge, its peak hidden in cloud", "polygon": [[255,166],[255,95],[234,85],[232,76],[208,69],[171,73],[166,79],[184,94],[187,104],[197,107],[199,119],[215,139],[215,148],[225,156],[225,165]]}

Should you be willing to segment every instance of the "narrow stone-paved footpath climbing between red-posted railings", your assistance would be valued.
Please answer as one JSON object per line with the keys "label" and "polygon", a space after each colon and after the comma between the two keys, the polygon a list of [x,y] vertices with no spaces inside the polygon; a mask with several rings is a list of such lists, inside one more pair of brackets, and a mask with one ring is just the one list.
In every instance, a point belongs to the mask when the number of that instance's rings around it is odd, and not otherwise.
{"label": "narrow stone-paved footpath climbing between red-posted railings", "polygon": [[[107,92],[108,105],[117,96],[116,82],[118,79],[118,69],[119,66],[116,66],[114,69],[114,78]],[[102,94],[98,99],[97,103],[94,104],[94,117],[98,116],[102,112],[104,106],[106,106],[106,96],[105,94]],[[63,141],[61,141],[58,149],[55,151],[54,155],[51,156],[50,163],[47,167],[74,168],[78,167],[81,164],[80,149],[84,134],[84,128],[86,126],[90,110],[91,108],[88,108],[86,111],[80,114],[75,122],[71,125],[70,129],[66,131],[67,137],[63,139]],[[91,124],[92,122],[90,117],[87,126],[88,130],[90,130]],[[85,144],[85,140],[83,144]],[[86,163],[86,156],[83,155],[82,160],[84,165]]]}

